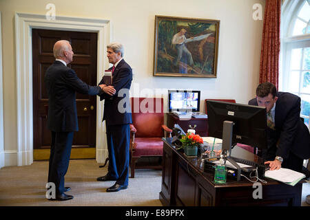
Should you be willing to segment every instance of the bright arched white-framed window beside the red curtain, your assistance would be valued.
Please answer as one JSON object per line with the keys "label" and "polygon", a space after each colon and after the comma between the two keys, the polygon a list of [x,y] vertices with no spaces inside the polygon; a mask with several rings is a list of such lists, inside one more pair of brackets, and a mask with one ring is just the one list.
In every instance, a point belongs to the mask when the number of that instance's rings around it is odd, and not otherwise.
{"label": "bright arched white-framed window beside the red curtain", "polygon": [[301,98],[300,117],[310,115],[310,1],[286,0],[282,5],[279,90]]}

